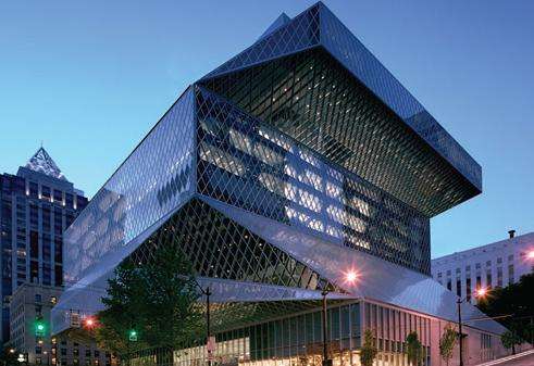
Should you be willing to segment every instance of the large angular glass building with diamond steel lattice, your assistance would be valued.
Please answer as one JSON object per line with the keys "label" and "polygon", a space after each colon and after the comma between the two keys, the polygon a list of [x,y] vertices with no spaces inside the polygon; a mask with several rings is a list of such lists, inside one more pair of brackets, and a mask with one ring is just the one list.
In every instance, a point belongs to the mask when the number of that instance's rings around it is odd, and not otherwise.
{"label": "large angular glass building with diamond steel lattice", "polygon": [[[481,191],[481,166],[324,4],[282,14],[181,96],[67,230],[75,285],[53,331],[66,310],[102,310],[122,261],[177,241],[213,292],[221,364],[320,364],[328,290],[336,366],[359,364],[364,329],[381,365],[406,364],[412,330],[437,365],[457,298],[430,277],[430,218]],[[504,329],[462,315],[467,357],[499,352]]]}

